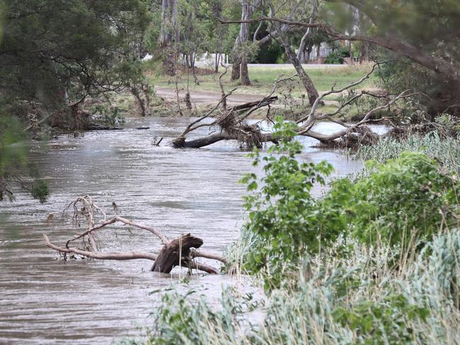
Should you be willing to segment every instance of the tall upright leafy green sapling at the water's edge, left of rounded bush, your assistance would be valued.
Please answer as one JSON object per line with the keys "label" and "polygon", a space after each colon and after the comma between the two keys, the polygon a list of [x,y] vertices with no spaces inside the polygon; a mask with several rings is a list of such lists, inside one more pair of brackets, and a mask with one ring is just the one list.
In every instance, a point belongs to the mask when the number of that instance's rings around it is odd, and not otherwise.
{"label": "tall upright leafy green sapling at the water's edge, left of rounded bush", "polygon": [[[245,175],[241,182],[253,192],[244,198],[249,211],[246,227],[257,235],[245,267],[253,272],[268,269],[280,274],[297,266],[304,252],[318,252],[321,242],[335,240],[341,229],[340,218],[331,216],[333,207],[326,211],[310,194],[316,182],[326,183],[324,178],[332,166],[324,161],[314,164],[297,160],[295,155],[302,146],[293,140],[296,132],[292,122],[282,122],[278,117],[274,129],[278,144],[268,149],[268,156],[261,158],[257,150],[250,155],[253,165],[261,161],[264,164],[260,189],[255,174]],[[276,284],[280,276],[273,279]]]}

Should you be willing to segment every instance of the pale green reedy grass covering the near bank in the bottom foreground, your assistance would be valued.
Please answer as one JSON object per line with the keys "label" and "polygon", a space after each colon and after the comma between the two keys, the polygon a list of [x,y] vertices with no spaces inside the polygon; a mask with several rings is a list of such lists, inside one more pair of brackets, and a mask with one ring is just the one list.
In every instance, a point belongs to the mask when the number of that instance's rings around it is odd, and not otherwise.
{"label": "pale green reedy grass covering the near bank in the bottom foreground", "polygon": [[[437,236],[394,271],[388,247],[351,243],[305,257],[295,287],[270,296],[226,289],[220,305],[205,291],[170,291],[151,313],[151,327],[122,344],[460,344],[460,230]],[[248,312],[262,310],[262,322]]]}

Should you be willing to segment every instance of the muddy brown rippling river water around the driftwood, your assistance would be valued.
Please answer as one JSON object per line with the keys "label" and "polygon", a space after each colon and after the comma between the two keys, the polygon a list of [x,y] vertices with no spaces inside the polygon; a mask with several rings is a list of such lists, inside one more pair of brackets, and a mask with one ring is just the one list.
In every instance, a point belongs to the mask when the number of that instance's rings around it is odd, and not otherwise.
{"label": "muddy brown rippling river water around the driftwood", "polygon": [[[61,212],[83,194],[110,212],[117,203],[122,216],[162,230],[169,237],[190,232],[205,240],[202,250],[220,253],[238,238],[243,221],[238,179],[251,171],[251,160],[235,143],[199,150],[152,146],[178,134],[187,119],[136,119],[122,131],[94,131],[82,138],[61,136],[30,142],[30,160],[50,183],[45,204],[17,195],[0,204],[0,343],[110,344],[136,334],[148,324],[156,294],[178,279],[149,272],[151,262],[62,262],[45,247],[42,234],[63,245],[78,229]],[[149,126],[137,130],[134,127]],[[333,131],[333,124],[317,130]],[[205,134],[207,129],[203,128]],[[314,143],[304,139],[306,145]],[[359,170],[362,163],[334,151],[307,147],[301,159],[326,159],[335,176]],[[316,193],[320,191],[317,189]],[[47,221],[47,216],[54,218]],[[103,250],[158,250],[150,233],[113,227],[100,233]],[[116,229],[116,230],[114,230]],[[207,262],[216,264],[215,262]],[[181,274],[185,274],[183,271]],[[222,286],[234,283],[225,275],[197,275],[190,286],[206,289],[217,299]]]}

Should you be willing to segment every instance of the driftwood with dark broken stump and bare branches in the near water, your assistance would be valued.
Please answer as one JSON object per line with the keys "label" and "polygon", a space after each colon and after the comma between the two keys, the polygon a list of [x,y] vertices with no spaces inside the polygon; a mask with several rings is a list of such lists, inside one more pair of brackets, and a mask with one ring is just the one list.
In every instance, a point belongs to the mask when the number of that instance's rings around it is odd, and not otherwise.
{"label": "driftwood with dark broken stump and bare branches in the near water", "polygon": [[[114,216],[113,218],[107,219],[105,211],[100,209],[96,204],[93,203],[91,197],[79,197],[76,201],[73,201],[69,206],[74,208],[74,221],[79,221],[80,218],[86,218],[88,224],[86,230],[82,233],[75,235],[73,238],[67,240],[64,247],[54,245],[47,235],[43,235],[45,238],[45,245],[50,247],[52,250],[57,250],[61,253],[64,259],[67,256],[71,257],[74,255],[80,255],[89,259],[100,259],[100,260],[132,260],[132,259],[148,259],[154,261],[154,265],[151,267],[151,271],[160,273],[170,273],[171,270],[176,267],[188,267],[188,269],[197,269],[199,271],[205,271],[209,274],[217,274],[217,269],[210,267],[207,264],[195,262],[195,257],[205,257],[208,259],[214,259],[222,263],[226,263],[226,259],[219,255],[212,255],[205,252],[198,252],[196,249],[201,247],[203,240],[196,238],[192,235],[182,235],[180,238],[169,240],[161,231],[145,226],[142,224],[134,223],[126,218],[120,216]],[[114,206],[115,209],[115,206]],[[96,224],[96,214],[101,214],[103,220]],[[163,247],[161,248],[158,255],[151,252],[101,252],[97,245],[97,234],[100,230],[103,230],[106,226],[114,223],[122,223],[134,228],[149,231],[149,233],[155,235]],[[80,247],[70,247],[71,243],[80,240]]]}

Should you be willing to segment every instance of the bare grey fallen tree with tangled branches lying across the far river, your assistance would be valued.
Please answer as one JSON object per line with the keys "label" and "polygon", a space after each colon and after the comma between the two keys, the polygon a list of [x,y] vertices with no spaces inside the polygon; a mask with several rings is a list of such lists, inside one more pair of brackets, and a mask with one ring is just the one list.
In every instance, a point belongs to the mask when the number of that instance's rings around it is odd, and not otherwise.
{"label": "bare grey fallen tree with tangled branches lying across the far river", "polygon": [[[343,88],[335,89],[333,87],[325,93],[319,95],[309,109],[309,112],[296,121],[298,125],[297,133],[299,136],[309,136],[320,141],[320,143],[324,146],[350,146],[356,144],[372,144],[382,136],[388,135],[375,133],[369,127],[369,124],[375,122],[384,122],[385,120],[389,121],[393,117],[375,118],[375,115],[381,112],[381,110],[390,110],[393,105],[396,105],[398,100],[404,100],[406,98],[413,97],[414,95],[419,95],[420,93],[413,93],[411,90],[404,90],[398,95],[382,96],[368,92],[366,90],[361,90],[360,92],[350,96],[350,98],[340,103],[337,109],[333,112],[319,112],[318,110],[319,105],[323,104],[324,98],[326,98],[328,95],[343,94],[345,91],[351,88],[356,88],[361,83],[366,81],[372,75],[372,73],[374,73],[376,66],[384,63],[386,62],[374,64],[372,69],[358,81],[352,82]],[[268,122],[272,122],[270,119],[270,106],[277,100],[277,97],[273,96],[273,94],[275,93],[275,90],[277,89],[277,86],[280,84],[280,82],[291,80],[292,78],[294,77],[291,76],[288,78],[277,79],[270,94],[265,98],[255,102],[236,105],[229,110],[226,110],[225,107],[221,107],[220,105],[225,104],[226,98],[228,98],[229,95],[231,95],[231,93],[233,93],[236,89],[231,90],[229,93],[224,93],[222,91],[222,98],[219,103],[202,117],[196,119],[193,122],[190,122],[190,124],[188,124],[183,132],[177,136],[176,139],[171,141],[171,146],[175,148],[200,148],[214,144],[218,141],[236,140],[241,146],[260,148],[263,146],[263,143],[268,141],[276,142],[276,138],[274,138],[270,132],[263,131],[259,124],[248,124],[247,119],[256,110],[260,110],[263,107],[268,107],[265,119]],[[337,117],[337,115],[344,116],[343,111],[352,105],[355,100],[364,95],[373,98],[379,98],[381,100],[381,105],[373,107],[371,110],[367,111],[362,115],[361,119],[355,123],[347,123],[345,120]],[[211,121],[209,121],[209,119],[211,119]],[[335,131],[332,134],[322,134],[313,130],[314,124],[325,120],[340,124],[340,126],[343,128]],[[188,136],[194,134],[194,131],[202,127],[209,127],[211,132],[206,136],[195,136],[192,139],[188,139]]]}

